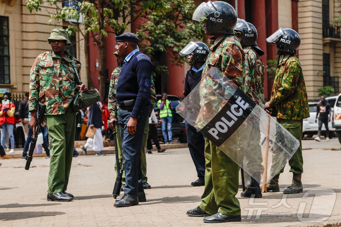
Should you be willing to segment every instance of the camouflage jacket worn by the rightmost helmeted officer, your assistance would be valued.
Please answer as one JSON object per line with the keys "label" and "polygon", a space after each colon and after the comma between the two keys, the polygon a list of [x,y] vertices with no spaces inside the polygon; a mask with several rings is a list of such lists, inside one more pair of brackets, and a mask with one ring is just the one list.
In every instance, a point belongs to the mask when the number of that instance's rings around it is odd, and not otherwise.
{"label": "camouflage jacket worn by the rightmost helmeted officer", "polygon": [[296,56],[287,54],[280,60],[269,105],[276,107],[277,118],[302,120],[310,116],[306,85]]}

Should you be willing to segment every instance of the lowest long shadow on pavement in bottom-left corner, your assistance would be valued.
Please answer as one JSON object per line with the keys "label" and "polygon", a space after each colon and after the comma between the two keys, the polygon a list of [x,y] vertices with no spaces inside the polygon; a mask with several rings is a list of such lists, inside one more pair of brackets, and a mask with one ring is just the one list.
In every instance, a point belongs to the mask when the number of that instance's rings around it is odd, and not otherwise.
{"label": "lowest long shadow on pavement in bottom-left corner", "polygon": [[0,213],[0,220],[1,221],[13,221],[13,220],[21,220],[21,219],[27,219],[32,217],[42,217],[42,216],[56,216],[66,214],[64,212],[58,212],[58,211],[50,211],[50,212],[44,212],[44,211],[24,211],[24,212],[3,212]]}

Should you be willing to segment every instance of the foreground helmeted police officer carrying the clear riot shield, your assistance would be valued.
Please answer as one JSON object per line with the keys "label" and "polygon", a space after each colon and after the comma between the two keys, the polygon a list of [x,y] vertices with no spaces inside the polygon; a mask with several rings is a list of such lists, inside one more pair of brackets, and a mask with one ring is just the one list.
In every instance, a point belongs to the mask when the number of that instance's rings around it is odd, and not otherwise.
{"label": "foreground helmeted police officer carrying the clear riot shield", "polygon": [[[245,54],[234,35],[236,11],[223,1],[203,2],[194,11],[193,20],[204,21],[205,34],[213,36],[207,41],[212,46],[203,76],[211,67],[216,67],[243,89]],[[239,137],[235,135],[232,139],[236,141],[237,146],[231,149],[237,152]],[[240,205],[236,198],[239,166],[207,138],[205,158],[205,189],[201,197],[202,202],[197,208],[187,211],[187,215],[205,217],[204,222],[207,223],[241,221]]]}

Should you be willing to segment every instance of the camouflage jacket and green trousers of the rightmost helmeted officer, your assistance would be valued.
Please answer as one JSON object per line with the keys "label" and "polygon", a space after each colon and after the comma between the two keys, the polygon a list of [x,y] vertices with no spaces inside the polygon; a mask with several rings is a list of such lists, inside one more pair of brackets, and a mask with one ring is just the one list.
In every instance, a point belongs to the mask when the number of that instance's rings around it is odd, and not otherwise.
{"label": "camouflage jacket and green trousers of the rightmost helmeted officer", "polygon": [[[310,116],[308,96],[299,60],[293,54],[281,57],[277,66],[269,106],[275,109],[277,121],[288,130],[298,141],[300,146],[289,160],[290,172],[294,177],[303,172],[302,157],[302,120]],[[283,169],[270,181],[278,183]]]}

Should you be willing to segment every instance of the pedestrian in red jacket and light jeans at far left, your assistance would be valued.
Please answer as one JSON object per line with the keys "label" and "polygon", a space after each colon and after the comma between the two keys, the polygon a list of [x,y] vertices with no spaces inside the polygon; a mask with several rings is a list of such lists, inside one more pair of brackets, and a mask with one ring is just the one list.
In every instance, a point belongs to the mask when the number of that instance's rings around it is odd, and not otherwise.
{"label": "pedestrian in red jacket and light jeans at far left", "polygon": [[15,105],[12,101],[10,101],[10,97],[8,94],[3,96],[3,100],[0,104],[0,125],[1,128],[1,146],[5,146],[5,138],[6,132],[8,133],[11,141],[11,150],[10,153],[14,153],[14,112]]}

